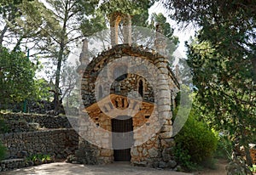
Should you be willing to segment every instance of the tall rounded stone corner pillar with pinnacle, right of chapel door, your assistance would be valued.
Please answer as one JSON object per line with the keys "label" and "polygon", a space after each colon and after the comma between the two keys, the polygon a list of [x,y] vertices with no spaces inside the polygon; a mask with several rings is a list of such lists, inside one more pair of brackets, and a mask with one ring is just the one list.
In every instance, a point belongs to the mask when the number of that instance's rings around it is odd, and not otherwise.
{"label": "tall rounded stone corner pillar with pinnacle, right of chapel door", "polygon": [[157,82],[157,111],[159,120],[164,121],[160,129],[160,151],[161,161],[159,167],[176,167],[177,163],[173,161],[172,147],[174,141],[172,139],[172,97],[171,97],[171,79],[168,76],[168,59],[165,57],[166,54],[166,38],[161,34],[161,25],[156,25],[156,36],[155,36],[155,48],[157,50],[156,59],[154,65],[157,66],[160,71]]}

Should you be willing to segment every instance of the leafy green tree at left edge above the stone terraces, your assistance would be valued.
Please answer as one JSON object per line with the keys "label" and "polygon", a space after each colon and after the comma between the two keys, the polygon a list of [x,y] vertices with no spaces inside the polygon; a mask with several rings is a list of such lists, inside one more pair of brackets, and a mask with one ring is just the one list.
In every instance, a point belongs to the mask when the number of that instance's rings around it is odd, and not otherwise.
{"label": "leafy green tree at left edge above the stone terraces", "polygon": [[0,104],[21,102],[31,98],[34,95],[34,76],[37,65],[34,65],[20,51],[9,52],[7,48],[1,49]]}

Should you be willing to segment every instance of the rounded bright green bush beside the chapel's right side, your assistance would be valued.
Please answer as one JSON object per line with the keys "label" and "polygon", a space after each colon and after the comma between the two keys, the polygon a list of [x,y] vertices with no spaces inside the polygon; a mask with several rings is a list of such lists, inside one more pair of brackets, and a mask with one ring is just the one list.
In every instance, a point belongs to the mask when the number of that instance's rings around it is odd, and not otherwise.
{"label": "rounded bright green bush beside the chapel's right side", "polygon": [[177,162],[186,169],[193,169],[195,165],[212,159],[218,138],[201,121],[196,121],[193,113],[189,115],[182,130],[175,137],[177,146],[175,155]]}

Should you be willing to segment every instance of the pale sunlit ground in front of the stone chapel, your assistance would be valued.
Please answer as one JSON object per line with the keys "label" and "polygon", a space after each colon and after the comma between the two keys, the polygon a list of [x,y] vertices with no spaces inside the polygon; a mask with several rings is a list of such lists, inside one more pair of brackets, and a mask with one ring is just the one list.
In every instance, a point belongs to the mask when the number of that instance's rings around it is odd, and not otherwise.
{"label": "pale sunlit ground in front of the stone chapel", "polygon": [[131,167],[127,163],[113,163],[105,166],[84,166],[56,162],[40,165],[38,167],[26,167],[9,172],[2,172],[3,175],[189,175],[189,173],[172,172],[170,170],[156,170],[146,167]]}

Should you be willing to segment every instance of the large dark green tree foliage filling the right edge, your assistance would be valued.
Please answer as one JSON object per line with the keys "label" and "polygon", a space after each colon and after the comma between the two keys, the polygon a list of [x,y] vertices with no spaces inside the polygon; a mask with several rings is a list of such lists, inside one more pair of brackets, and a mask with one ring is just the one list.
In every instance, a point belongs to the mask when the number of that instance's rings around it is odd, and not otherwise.
{"label": "large dark green tree foliage filling the right edge", "polygon": [[[248,150],[256,132],[256,1],[161,0],[173,20],[201,29],[188,44],[201,109]],[[234,139],[235,140],[235,139]],[[248,151],[246,151],[248,152]],[[247,154],[247,163],[252,166]]]}

